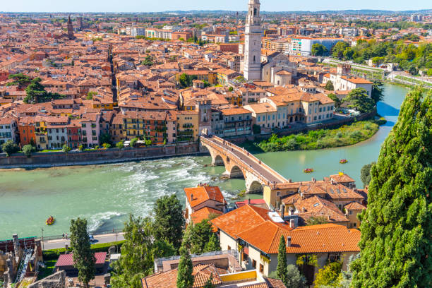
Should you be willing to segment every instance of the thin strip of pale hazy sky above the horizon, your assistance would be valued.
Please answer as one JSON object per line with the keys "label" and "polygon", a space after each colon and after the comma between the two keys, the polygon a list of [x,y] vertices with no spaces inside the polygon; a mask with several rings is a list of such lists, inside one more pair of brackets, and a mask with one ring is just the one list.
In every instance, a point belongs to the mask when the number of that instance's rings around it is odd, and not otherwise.
{"label": "thin strip of pale hazy sky above the horizon", "polygon": [[[5,12],[152,12],[169,10],[246,11],[248,0],[1,0]],[[263,11],[431,9],[431,0],[261,0]]]}

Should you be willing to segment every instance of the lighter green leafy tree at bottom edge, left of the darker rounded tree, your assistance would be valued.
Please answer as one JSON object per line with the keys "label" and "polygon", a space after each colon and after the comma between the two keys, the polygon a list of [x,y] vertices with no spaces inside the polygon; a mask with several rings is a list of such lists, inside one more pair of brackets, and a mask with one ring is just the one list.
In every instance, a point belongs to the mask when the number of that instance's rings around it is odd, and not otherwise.
{"label": "lighter green leafy tree at bottom edge, left of the darker rounded tree", "polygon": [[121,256],[114,263],[112,285],[114,288],[140,288],[141,279],[153,272],[152,221],[149,217],[133,217],[124,224],[125,242]]}

